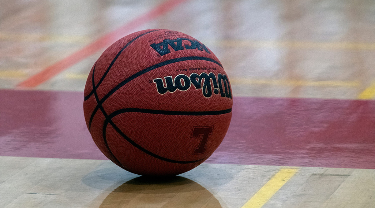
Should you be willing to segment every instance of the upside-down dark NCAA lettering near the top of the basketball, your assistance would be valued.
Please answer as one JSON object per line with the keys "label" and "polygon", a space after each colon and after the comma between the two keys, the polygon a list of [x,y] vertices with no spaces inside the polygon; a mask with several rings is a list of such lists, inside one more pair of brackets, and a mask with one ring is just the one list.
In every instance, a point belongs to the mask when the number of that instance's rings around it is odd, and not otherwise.
{"label": "upside-down dark NCAA lettering near the top of the basketball", "polygon": [[[183,40],[185,40],[184,41],[185,43],[189,43],[189,44],[182,45]],[[189,42],[187,42],[187,41],[189,41]],[[175,50],[175,51],[184,50],[184,49],[198,49],[198,50],[205,50],[207,53],[211,54],[211,52],[208,50],[208,48],[205,45],[203,45],[202,43],[200,43],[198,40],[190,40],[190,39],[187,39],[187,38],[177,38],[177,39],[174,39],[174,40],[165,39],[161,43],[153,43],[150,46],[154,50],[156,50],[156,52],[159,53],[160,56],[164,56],[164,55],[171,52],[171,50],[168,49],[168,45],[171,46],[172,49]]]}

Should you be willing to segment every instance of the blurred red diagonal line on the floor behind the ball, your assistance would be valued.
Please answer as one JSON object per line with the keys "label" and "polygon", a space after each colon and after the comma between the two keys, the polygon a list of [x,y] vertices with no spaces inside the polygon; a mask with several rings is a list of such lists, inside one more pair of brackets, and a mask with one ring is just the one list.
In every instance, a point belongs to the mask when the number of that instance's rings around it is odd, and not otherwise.
{"label": "blurred red diagonal line on the floor behind the ball", "polygon": [[111,44],[113,44],[118,39],[124,37],[125,35],[129,34],[130,31],[134,30],[135,28],[139,27],[139,25],[144,24],[145,22],[151,21],[152,19],[157,18],[160,15],[165,14],[166,12],[172,10],[177,5],[185,2],[186,0],[166,0],[163,3],[159,4],[149,12],[145,13],[138,18],[133,19],[132,21],[126,23],[122,27],[114,30],[98,40],[92,42],[91,44],[87,45],[81,50],[73,53],[72,55],[59,60],[58,62],[48,66],[47,68],[43,69],[39,73],[31,76],[27,80],[17,84],[17,88],[31,88],[36,87],[39,84],[44,83],[45,81],[51,79],[58,73],[64,71],[65,69],[69,68],[70,66],[80,62],[81,60],[93,55],[94,53],[98,52],[102,48],[107,48]]}

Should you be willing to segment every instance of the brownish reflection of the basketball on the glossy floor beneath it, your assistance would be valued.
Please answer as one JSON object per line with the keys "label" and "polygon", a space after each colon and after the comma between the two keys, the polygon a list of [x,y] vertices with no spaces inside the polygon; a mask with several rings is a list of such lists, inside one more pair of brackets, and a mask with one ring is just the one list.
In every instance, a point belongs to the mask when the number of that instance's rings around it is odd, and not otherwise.
{"label": "brownish reflection of the basketball on the glossy floor beneath it", "polygon": [[100,207],[221,207],[219,201],[195,181],[175,176],[167,180],[138,177],[111,192]]}

